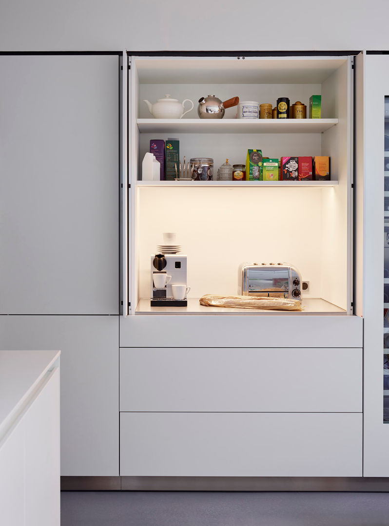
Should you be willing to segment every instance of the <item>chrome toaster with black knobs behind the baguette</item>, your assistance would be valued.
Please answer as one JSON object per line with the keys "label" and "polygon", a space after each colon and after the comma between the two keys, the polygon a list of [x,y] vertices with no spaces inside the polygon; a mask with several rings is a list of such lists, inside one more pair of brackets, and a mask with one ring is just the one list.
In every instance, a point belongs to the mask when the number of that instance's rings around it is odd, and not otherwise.
{"label": "chrome toaster with black knobs behind the baguette", "polygon": [[302,279],[296,267],[286,263],[242,263],[238,271],[238,295],[301,300]]}

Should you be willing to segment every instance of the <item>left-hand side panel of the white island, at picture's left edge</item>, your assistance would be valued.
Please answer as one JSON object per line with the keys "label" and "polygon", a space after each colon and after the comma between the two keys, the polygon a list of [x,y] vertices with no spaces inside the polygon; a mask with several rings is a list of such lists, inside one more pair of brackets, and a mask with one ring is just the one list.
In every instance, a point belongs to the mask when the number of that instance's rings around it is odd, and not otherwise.
{"label": "left-hand side panel of the white island, at picture's left edge", "polygon": [[7,526],[26,524],[25,443],[25,423],[19,421],[0,449],[1,522]]}

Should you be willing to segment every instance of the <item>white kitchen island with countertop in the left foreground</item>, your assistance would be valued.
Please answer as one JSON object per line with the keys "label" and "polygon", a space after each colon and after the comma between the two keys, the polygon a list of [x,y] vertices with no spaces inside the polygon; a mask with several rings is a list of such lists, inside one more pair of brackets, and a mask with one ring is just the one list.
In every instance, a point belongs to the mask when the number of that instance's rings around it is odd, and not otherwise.
{"label": "white kitchen island with countertop in the left foreground", "polygon": [[0,509],[12,526],[59,526],[59,351],[0,351]]}

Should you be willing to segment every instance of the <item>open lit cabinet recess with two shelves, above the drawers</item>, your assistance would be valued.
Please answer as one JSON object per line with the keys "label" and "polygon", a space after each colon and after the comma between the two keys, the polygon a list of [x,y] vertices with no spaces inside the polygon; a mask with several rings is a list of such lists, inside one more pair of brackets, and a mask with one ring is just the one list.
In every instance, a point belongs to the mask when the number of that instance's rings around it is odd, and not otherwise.
{"label": "open lit cabinet recess with two shelves, above the drawers", "polygon": [[[352,314],[352,57],[131,57],[128,80],[129,276],[132,314]],[[194,108],[182,119],[157,119],[165,94]],[[322,96],[321,119],[223,119],[197,116],[197,100],[215,94],[275,106],[278,97],[308,107]],[[330,156],[331,181],[142,181],[152,139],[179,139],[180,158],[244,164],[248,148],[264,157]],[[214,179],[216,179],[214,175]],[[150,257],[163,232],[177,232],[187,255],[187,307],[151,307]],[[236,295],[244,262],[287,262],[309,289],[302,312],[201,307],[204,294]]]}

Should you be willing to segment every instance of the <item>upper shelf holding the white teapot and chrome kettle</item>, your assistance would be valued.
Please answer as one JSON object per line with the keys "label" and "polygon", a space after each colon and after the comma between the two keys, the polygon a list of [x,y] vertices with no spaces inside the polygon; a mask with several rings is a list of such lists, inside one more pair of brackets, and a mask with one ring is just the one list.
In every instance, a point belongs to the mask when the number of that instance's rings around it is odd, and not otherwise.
{"label": "upper shelf holding the white teapot and chrome kettle", "polygon": [[323,133],[338,119],[137,119],[143,133]]}

